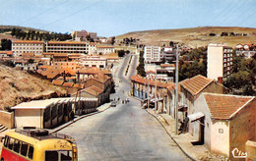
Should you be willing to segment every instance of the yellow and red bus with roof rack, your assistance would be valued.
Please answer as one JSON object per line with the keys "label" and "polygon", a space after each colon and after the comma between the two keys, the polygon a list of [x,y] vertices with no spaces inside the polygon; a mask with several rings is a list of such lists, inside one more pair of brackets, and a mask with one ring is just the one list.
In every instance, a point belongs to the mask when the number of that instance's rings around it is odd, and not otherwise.
{"label": "yellow and red bus with roof rack", "polygon": [[3,139],[1,161],[77,161],[78,150],[71,136],[49,130],[11,130]]}

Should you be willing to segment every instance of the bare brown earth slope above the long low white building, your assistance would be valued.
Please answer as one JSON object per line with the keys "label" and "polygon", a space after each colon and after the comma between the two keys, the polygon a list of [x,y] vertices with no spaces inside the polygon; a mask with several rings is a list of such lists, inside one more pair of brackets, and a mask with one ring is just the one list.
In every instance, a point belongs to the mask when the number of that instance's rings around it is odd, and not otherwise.
{"label": "bare brown earth slope above the long low white building", "polygon": [[26,72],[0,65],[0,110],[23,101],[62,96],[66,90]]}

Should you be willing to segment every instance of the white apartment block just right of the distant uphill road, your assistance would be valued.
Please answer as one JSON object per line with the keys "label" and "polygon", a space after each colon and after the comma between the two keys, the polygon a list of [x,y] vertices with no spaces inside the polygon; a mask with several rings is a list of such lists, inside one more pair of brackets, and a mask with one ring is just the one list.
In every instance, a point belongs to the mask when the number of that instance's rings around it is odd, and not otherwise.
{"label": "white apartment block just right of the distant uphill road", "polygon": [[160,62],[160,46],[145,46],[144,60],[146,63]]}

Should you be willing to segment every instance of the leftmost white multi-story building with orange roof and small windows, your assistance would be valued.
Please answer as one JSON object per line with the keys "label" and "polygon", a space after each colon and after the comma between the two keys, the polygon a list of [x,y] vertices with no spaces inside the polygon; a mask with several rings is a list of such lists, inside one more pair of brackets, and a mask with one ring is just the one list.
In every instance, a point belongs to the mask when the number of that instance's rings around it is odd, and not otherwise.
{"label": "leftmost white multi-story building with orange roof and small windows", "polygon": [[12,43],[12,51],[14,57],[20,57],[23,53],[41,55],[43,53],[43,48],[43,41],[16,40]]}

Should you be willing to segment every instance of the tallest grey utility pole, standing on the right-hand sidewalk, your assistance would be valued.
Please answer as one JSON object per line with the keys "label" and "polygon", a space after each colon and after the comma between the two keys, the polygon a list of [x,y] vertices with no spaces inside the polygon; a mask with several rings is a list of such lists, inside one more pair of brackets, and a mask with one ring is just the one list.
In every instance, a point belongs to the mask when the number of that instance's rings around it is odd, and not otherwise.
{"label": "tallest grey utility pole, standing on the right-hand sidewalk", "polygon": [[175,83],[175,134],[178,134],[178,44],[176,51]]}

